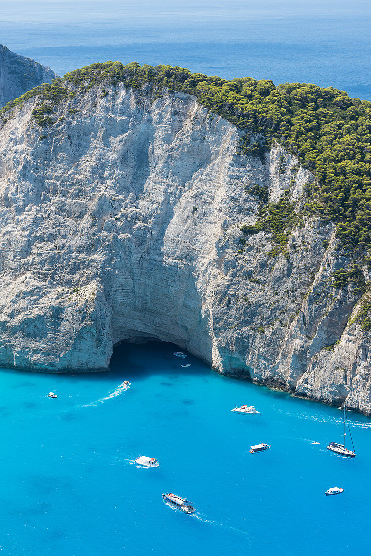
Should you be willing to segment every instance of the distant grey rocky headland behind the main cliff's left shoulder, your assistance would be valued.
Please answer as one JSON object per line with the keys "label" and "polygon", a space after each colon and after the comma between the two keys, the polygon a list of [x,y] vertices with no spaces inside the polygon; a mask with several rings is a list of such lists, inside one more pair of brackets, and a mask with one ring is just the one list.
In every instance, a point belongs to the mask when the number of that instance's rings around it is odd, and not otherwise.
{"label": "distant grey rocky headland behind the main cliff's left shoulder", "polygon": [[0,108],[33,87],[51,83],[56,77],[50,68],[0,44]]}

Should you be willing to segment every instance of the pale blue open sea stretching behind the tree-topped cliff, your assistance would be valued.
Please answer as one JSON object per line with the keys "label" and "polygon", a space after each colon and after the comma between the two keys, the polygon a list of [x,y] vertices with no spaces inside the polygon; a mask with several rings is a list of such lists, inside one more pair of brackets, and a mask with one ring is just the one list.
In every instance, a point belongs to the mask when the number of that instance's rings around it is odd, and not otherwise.
{"label": "pale blue open sea stretching behind the tree-topped cliff", "polygon": [[0,0],[0,43],[60,75],[107,59],[371,100],[370,0]]}

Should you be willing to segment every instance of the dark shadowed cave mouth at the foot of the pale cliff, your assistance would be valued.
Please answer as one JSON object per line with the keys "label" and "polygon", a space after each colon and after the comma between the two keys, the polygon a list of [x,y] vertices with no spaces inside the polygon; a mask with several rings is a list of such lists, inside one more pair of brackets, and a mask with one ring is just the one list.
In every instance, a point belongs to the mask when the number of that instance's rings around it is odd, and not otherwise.
{"label": "dark shadowed cave mouth at the foot of the pale cliff", "polygon": [[[186,359],[177,358],[175,351],[182,351]],[[181,365],[190,364],[182,368]],[[211,366],[191,355],[184,348],[172,342],[150,339],[141,343],[122,340],[113,347],[110,360],[111,375],[122,377],[126,372],[130,375],[149,376],[169,374],[172,376],[187,374],[200,375],[211,372]]]}

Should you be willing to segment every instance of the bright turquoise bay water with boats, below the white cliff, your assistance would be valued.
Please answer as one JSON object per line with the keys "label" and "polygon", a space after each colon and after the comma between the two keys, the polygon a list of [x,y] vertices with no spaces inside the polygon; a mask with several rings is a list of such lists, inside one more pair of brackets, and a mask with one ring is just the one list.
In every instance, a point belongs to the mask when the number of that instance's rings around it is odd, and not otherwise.
{"label": "bright turquoise bay water with boats, below the white cliff", "polygon": [[[371,421],[349,414],[358,455],[336,456],[325,446],[340,439],[338,409],[192,356],[182,369],[175,350],[122,344],[105,374],[1,371],[2,552],[296,556],[335,543],[337,554],[369,554]],[[261,416],[233,414],[236,404]],[[261,441],[271,449],[251,455]],[[140,455],[160,466],[138,468]],[[330,486],[345,492],[325,497]],[[168,507],[165,492],[196,514]]]}

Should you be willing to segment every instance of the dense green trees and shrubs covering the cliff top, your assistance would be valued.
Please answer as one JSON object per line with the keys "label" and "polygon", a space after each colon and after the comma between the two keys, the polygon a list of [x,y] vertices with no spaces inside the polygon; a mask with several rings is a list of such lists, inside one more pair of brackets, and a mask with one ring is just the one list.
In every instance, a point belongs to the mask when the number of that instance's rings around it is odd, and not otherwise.
{"label": "dense green trees and shrubs covering the cliff top", "polygon": [[[306,83],[276,87],[272,81],[251,77],[226,81],[180,67],[140,66],[136,62],[127,66],[95,63],[67,73],[63,80],[67,83],[57,80],[9,102],[0,115],[38,94],[41,106],[33,115],[39,125],[50,126],[52,102],[74,94],[68,83],[82,93],[101,83],[120,82],[132,88],[150,83],[149,93],[159,96],[164,86],[189,93],[245,131],[242,152],[264,157],[275,138],[296,155],[317,178],[306,191],[305,211],[333,221],[345,249],[362,252],[371,248],[371,102],[350,98],[332,87]],[[286,211],[288,208],[285,206]],[[274,215],[276,224],[280,218]],[[285,229],[280,231],[279,222],[274,233],[278,244],[284,246],[286,238],[279,234],[285,234]]]}

